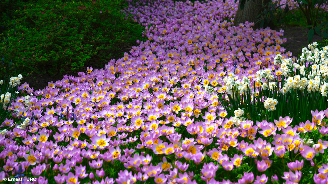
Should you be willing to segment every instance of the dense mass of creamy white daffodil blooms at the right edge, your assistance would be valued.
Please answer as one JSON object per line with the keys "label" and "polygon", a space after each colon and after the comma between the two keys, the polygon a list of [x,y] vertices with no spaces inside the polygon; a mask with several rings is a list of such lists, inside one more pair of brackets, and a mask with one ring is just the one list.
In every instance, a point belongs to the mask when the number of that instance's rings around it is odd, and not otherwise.
{"label": "dense mass of creamy white daffodil blooms at the right edge", "polygon": [[[319,50],[318,43],[314,42],[308,45],[308,48],[302,49],[302,55],[297,62],[293,63],[292,59],[283,59],[280,54],[274,58],[274,64],[280,64],[280,72],[288,77],[282,84],[280,92],[287,93],[290,90],[305,90],[307,92],[321,92],[323,96],[327,96],[328,84],[325,82],[328,76],[328,46]],[[310,50],[308,50],[310,49]],[[300,75],[290,76],[294,71],[299,70]],[[262,78],[271,75],[263,70],[257,71],[256,81],[260,82]],[[267,75],[265,75],[267,74]],[[265,82],[262,85],[263,90],[274,87],[272,82]]]}

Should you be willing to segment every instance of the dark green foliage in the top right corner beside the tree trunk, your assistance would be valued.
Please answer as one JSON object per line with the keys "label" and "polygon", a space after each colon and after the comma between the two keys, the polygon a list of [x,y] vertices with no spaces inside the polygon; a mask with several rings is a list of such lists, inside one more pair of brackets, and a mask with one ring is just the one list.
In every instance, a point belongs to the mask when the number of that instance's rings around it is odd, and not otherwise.
{"label": "dark green foliage in the top right corner beside the tree trunk", "polygon": [[[245,0],[242,2],[245,3]],[[260,22],[260,27],[274,28],[274,25],[283,25],[308,28],[309,43],[314,34],[327,39],[328,13],[325,11],[328,6],[327,2],[324,0],[298,0],[296,3],[296,8],[292,9],[288,3],[282,4],[280,1],[270,1],[267,5],[262,4],[263,11],[255,23]]]}

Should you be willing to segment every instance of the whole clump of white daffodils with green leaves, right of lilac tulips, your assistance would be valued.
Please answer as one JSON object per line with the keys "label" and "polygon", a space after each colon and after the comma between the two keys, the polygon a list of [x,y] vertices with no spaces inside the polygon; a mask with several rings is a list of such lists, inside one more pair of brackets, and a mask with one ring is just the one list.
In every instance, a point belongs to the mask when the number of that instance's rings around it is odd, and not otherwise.
{"label": "whole clump of white daffodils with green leaves, right of lilac tulips", "polygon": [[[317,43],[313,43],[311,46],[320,48],[320,45]],[[226,93],[229,102],[221,100],[223,107],[227,110],[228,116],[234,116],[234,110],[240,108],[244,110],[249,120],[262,121],[266,119],[268,122],[274,122],[279,116],[290,116],[293,117],[293,122],[298,125],[300,122],[311,120],[312,115],[308,112],[327,109],[328,101],[325,83],[328,82],[328,78],[318,72],[320,71],[318,67],[322,63],[319,63],[320,59],[318,61],[311,59],[312,57],[314,58],[314,54],[314,51],[308,54],[303,52],[303,58],[294,63],[299,67],[306,66],[304,73],[300,68],[296,69],[292,65],[285,64],[292,72],[286,75],[279,74],[270,80],[269,75],[271,73],[267,74],[265,71],[260,71],[260,73],[263,72],[264,76],[261,76],[263,80],[260,79],[259,83],[254,81],[254,84],[248,86],[247,90],[244,91],[240,91],[238,88],[239,84],[233,81],[231,83],[232,93]],[[308,60],[309,58],[310,60]],[[279,59],[277,62],[281,63]],[[304,89],[297,87],[298,83],[296,81],[298,80],[294,80],[296,78],[300,81],[306,79],[306,83],[303,83],[305,85]],[[268,87],[270,83],[274,83],[275,85]],[[293,86],[295,83],[296,86]],[[290,87],[287,89],[287,86]],[[265,108],[264,100],[268,98],[278,101],[277,105],[275,105],[275,110]]]}

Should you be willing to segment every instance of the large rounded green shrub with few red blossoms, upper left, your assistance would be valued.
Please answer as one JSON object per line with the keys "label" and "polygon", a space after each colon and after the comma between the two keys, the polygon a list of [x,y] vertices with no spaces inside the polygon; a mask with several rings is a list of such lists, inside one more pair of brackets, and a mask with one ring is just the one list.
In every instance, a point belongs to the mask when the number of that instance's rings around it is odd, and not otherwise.
{"label": "large rounded green shrub with few red blossoms, upper left", "polygon": [[142,27],[122,13],[123,0],[52,1],[26,3],[13,19],[4,19],[0,34],[3,68],[17,67],[12,75],[77,71],[87,61],[106,61],[122,47],[142,40]]}

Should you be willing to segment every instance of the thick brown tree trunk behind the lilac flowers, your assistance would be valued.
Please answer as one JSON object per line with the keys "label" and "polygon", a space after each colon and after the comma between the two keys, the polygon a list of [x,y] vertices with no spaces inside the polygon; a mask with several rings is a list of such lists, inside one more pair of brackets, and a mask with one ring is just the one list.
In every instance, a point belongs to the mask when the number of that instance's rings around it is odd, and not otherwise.
{"label": "thick brown tree trunk behind the lilac flowers", "polygon": [[240,1],[237,13],[234,20],[234,25],[238,26],[239,23],[254,22],[253,29],[260,28],[261,21],[257,21],[258,15],[264,10],[262,3],[265,6],[269,4],[270,0],[246,0],[244,9],[240,8]]}

